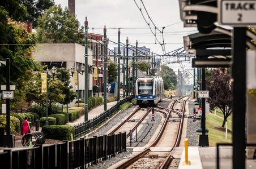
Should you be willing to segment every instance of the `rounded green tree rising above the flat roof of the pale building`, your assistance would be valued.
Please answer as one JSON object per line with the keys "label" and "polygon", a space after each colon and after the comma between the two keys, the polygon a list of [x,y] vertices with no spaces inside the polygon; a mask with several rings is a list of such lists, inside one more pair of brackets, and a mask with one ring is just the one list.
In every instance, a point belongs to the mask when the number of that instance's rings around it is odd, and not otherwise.
{"label": "rounded green tree rising above the flat roof of the pale building", "polygon": [[75,15],[69,14],[67,7],[63,10],[60,5],[54,5],[37,20],[36,30],[40,42],[84,43],[83,26],[78,23]]}

